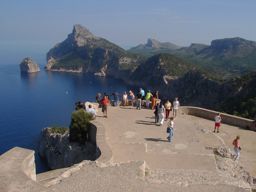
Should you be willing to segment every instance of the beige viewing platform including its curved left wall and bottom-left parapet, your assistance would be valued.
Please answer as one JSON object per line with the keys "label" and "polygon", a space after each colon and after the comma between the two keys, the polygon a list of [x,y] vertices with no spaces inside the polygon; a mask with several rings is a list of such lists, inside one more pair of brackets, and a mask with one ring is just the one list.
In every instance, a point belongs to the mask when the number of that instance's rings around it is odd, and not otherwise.
{"label": "beige viewing platform including its curved left wall and bottom-left parapet", "polygon": [[[137,110],[136,106],[109,106],[108,118],[105,118],[98,108],[96,121],[91,121],[91,126],[97,129],[96,142],[101,153],[96,161],[103,164],[85,161],[75,166],[79,168],[71,176],[63,177],[60,184],[49,188],[41,185],[46,183],[42,178],[47,173],[36,175],[36,181],[41,180],[41,184],[32,180],[35,180],[34,174],[26,174],[27,168],[33,167],[29,163],[33,158],[28,163],[24,159],[33,156],[33,151],[11,149],[0,156],[0,190],[208,192],[251,189],[248,181],[236,176],[236,169],[242,166],[256,175],[256,132],[244,129],[252,124],[252,120],[221,113],[220,132],[213,133],[213,117],[218,112],[180,107],[170,143],[166,138],[169,136],[166,133],[169,121],[164,121],[163,126],[155,124],[153,111],[146,107]],[[171,116],[172,112],[169,118]],[[240,135],[242,148],[238,163],[213,153],[218,147],[227,146],[233,150],[232,141],[237,135]],[[234,175],[218,168],[218,159],[226,159]],[[47,177],[57,177],[63,170],[56,170]],[[255,180],[251,182],[254,185]]]}

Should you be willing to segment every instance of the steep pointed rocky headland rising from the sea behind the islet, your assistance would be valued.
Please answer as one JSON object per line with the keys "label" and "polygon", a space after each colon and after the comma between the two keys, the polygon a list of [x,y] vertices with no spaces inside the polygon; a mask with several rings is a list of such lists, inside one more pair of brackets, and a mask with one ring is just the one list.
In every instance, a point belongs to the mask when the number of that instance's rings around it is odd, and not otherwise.
{"label": "steep pointed rocky headland rising from the sea behind the islet", "polygon": [[[74,25],[73,32],[62,43],[56,44],[47,53],[46,70],[96,73],[115,76],[117,71],[129,74],[143,56],[125,52],[124,49],[106,39],[96,37],[81,25]],[[128,69],[128,70],[127,70]]]}

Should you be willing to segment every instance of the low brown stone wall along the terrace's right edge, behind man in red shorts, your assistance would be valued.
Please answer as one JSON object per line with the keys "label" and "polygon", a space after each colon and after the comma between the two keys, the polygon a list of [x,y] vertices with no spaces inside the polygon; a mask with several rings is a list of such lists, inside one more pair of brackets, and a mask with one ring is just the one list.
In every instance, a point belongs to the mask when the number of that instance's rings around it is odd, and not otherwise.
{"label": "low brown stone wall along the terrace's right edge, behind man in red shorts", "polygon": [[[219,112],[204,109],[204,108],[198,108],[198,107],[180,107],[177,114],[178,115],[193,115],[193,116],[199,116],[207,119],[214,119],[214,117]],[[221,123],[226,123],[234,126],[239,126],[242,128],[245,128],[247,125],[250,127],[251,130],[254,130],[254,127],[251,127],[252,121],[250,119],[245,119],[242,117],[237,117],[233,115],[228,115],[225,113],[221,114]]]}

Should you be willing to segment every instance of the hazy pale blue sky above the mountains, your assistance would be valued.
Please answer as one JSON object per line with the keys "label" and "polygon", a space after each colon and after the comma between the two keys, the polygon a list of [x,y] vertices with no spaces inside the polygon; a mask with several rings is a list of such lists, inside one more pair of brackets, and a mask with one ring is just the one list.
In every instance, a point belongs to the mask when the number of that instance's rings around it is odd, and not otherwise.
{"label": "hazy pale blue sky above the mountains", "polygon": [[179,46],[256,41],[255,7],[255,0],[0,0],[0,57],[46,55],[75,24],[125,50],[148,38]]}

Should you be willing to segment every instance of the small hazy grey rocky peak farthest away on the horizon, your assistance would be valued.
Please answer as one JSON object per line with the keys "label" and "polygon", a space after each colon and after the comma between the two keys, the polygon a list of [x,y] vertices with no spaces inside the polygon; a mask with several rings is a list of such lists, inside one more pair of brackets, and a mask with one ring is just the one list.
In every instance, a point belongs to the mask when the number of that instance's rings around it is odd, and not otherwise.
{"label": "small hazy grey rocky peak farthest away on the horizon", "polygon": [[151,49],[151,48],[164,48],[164,49],[171,49],[176,50],[180,49],[181,47],[175,44],[172,44],[170,42],[162,43],[160,41],[157,41],[155,39],[148,39],[148,43],[146,44],[140,44],[136,47],[131,47],[131,49]]}

